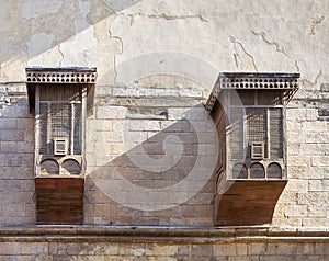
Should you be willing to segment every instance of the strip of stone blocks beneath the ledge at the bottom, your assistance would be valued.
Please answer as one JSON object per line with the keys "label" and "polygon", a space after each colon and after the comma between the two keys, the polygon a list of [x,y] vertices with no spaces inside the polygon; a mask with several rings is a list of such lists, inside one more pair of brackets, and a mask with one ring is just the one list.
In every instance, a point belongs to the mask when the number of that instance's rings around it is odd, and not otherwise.
{"label": "strip of stone blocks beneath the ledge at the bottom", "polygon": [[326,243],[77,243],[77,242],[5,242],[2,260],[143,260],[143,261],[273,261],[328,260]]}

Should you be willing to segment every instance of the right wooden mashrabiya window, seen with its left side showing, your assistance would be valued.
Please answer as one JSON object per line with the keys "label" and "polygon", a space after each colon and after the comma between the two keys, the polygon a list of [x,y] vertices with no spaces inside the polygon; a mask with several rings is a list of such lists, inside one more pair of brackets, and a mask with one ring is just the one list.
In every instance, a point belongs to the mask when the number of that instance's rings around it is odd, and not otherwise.
{"label": "right wooden mashrabiya window, seen with its left side showing", "polygon": [[272,220],[287,180],[285,110],[299,73],[220,73],[205,104],[217,128],[216,224]]}

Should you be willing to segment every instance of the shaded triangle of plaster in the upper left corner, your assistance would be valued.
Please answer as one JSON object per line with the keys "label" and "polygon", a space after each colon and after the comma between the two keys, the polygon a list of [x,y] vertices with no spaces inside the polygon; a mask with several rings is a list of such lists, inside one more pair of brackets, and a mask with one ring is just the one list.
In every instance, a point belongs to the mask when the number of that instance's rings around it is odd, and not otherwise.
{"label": "shaded triangle of plaster in the upper left corner", "polygon": [[37,56],[139,1],[1,1],[0,63]]}

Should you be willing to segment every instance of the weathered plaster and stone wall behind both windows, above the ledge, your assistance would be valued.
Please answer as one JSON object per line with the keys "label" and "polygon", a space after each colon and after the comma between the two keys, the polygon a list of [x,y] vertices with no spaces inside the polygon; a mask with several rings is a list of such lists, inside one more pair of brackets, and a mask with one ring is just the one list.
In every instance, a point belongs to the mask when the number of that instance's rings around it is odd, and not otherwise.
{"label": "weathered plaster and stone wall behind both windows, above the ledge", "polygon": [[[111,162],[143,188],[182,180],[195,147],[213,140],[196,140],[183,115],[205,101],[219,71],[298,71],[300,90],[287,110],[290,182],[273,224],[328,226],[328,11],[325,0],[1,1],[0,223],[35,222],[24,68],[75,65],[99,72],[88,118],[87,224],[212,226],[212,179],[186,204],[141,212],[110,200],[93,177],[112,173]],[[167,133],[185,138],[182,160],[168,175],[140,173],[125,158],[143,143],[159,159]]]}

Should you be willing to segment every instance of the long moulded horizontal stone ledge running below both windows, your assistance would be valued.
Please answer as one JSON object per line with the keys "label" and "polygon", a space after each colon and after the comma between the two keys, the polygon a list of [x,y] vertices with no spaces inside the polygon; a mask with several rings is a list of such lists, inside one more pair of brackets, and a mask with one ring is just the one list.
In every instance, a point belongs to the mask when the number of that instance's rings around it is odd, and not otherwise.
{"label": "long moulded horizontal stone ledge running below both windows", "polygon": [[325,242],[328,227],[0,226],[11,242]]}

